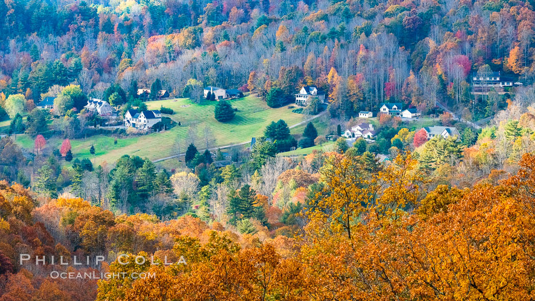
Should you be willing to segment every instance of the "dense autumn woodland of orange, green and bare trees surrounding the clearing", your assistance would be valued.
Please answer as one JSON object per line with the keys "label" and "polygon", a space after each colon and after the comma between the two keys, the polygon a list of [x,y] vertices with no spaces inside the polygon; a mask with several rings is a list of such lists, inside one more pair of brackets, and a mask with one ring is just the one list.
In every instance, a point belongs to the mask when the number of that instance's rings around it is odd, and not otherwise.
{"label": "dense autumn woodland of orange, green and bare trees surrounding the clearing", "polygon": [[[0,118],[9,120],[0,301],[535,299],[533,5],[0,2]],[[521,84],[472,93],[471,75],[491,72]],[[217,86],[276,108],[304,84],[326,92],[321,131],[307,122],[295,135],[273,120],[250,148],[213,156],[210,129],[190,126],[173,145],[181,165],[169,170],[133,154],[97,165],[72,152],[71,140],[110,122],[83,108],[91,97],[121,117],[147,108],[138,88],[151,89],[149,100],[165,89],[204,103],[215,96],[204,99],[203,87]],[[53,109],[36,109],[46,97]],[[339,138],[384,102],[435,114],[460,136],[428,141],[420,124],[383,114],[375,143]],[[221,123],[236,114],[226,101],[214,110]],[[158,129],[171,126],[180,125]],[[17,143],[22,133],[32,149]],[[327,137],[327,150],[277,155]],[[98,151],[91,145],[93,159]],[[21,253],[106,260],[20,265]],[[121,253],[187,265],[120,265]]]}

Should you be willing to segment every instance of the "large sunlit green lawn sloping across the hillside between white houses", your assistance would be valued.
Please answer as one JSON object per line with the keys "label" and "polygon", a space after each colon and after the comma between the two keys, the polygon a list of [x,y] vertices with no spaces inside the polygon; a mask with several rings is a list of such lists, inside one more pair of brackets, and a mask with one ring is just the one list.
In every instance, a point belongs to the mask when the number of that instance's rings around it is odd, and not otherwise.
{"label": "large sunlit green lawn sloping across the hillside between white houses", "polygon": [[[105,153],[97,156],[97,164],[102,161],[115,162],[124,154],[136,155],[142,158],[147,157],[149,159],[171,156],[173,155],[172,148],[177,136],[184,140],[188,127],[192,124],[196,128],[198,146],[202,144],[202,133],[206,126],[210,128],[213,138],[216,140],[216,145],[228,145],[250,141],[251,137],[262,136],[264,128],[271,121],[284,119],[291,126],[302,121],[303,118],[302,114],[293,113],[292,109],[288,109],[288,106],[271,109],[261,99],[252,95],[234,99],[230,103],[238,109],[238,112],[236,112],[233,120],[221,123],[213,117],[213,109],[216,102],[193,104],[189,99],[185,98],[147,102],[147,107],[150,110],[158,110],[162,105],[173,109],[172,118],[179,121],[181,126],[175,126],[161,133],[127,138],[125,139],[125,145],[121,148],[106,148]],[[113,142],[113,138],[110,139]],[[95,145],[96,147],[97,145]],[[77,155],[77,153],[74,152],[74,155]]]}

